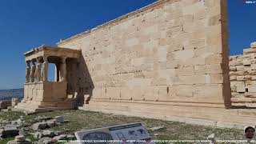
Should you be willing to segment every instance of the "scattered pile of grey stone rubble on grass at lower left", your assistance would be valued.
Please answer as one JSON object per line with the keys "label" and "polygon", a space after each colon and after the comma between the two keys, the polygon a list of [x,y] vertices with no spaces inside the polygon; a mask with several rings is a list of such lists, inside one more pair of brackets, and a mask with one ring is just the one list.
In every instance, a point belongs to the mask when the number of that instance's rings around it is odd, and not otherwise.
{"label": "scattered pile of grey stone rubble on grass at lower left", "polygon": [[50,144],[56,143],[58,140],[74,139],[72,134],[64,134],[66,130],[46,130],[57,125],[62,125],[65,122],[62,116],[57,116],[55,118],[39,116],[30,121],[30,125],[27,126],[26,121],[21,116],[17,120],[7,122],[0,120],[0,123],[4,123],[4,127],[0,127],[0,137],[1,138],[13,138],[13,141],[9,141],[8,144],[30,144],[29,139],[26,136],[29,134],[38,139],[38,144]]}

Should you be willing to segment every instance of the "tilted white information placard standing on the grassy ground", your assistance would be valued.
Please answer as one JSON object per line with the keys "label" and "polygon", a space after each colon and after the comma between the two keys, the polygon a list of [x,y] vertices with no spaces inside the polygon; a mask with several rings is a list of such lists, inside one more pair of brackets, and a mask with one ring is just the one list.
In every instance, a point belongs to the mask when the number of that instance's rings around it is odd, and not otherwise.
{"label": "tilted white information placard standing on the grassy ground", "polygon": [[142,126],[142,123],[130,123],[126,125],[103,127],[92,130],[75,132],[79,143],[150,143],[152,138]]}

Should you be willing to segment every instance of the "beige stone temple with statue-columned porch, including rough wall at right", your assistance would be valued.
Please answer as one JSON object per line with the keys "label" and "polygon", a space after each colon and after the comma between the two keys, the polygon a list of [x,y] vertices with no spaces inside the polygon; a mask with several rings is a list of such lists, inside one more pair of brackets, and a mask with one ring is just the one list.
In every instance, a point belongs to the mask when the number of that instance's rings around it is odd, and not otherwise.
{"label": "beige stone temple with statue-columned porch, including rough wall at right", "polygon": [[[15,108],[254,125],[256,46],[229,59],[226,5],[161,0],[57,46],[30,50],[24,98]],[[48,63],[56,66],[55,82],[47,81]]]}

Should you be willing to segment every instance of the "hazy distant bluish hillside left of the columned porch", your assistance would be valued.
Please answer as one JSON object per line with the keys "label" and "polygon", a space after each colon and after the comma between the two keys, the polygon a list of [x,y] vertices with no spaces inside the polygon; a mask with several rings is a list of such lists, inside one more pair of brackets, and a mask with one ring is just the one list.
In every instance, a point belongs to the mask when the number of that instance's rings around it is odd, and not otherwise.
{"label": "hazy distant bluish hillside left of the columned porch", "polygon": [[23,98],[24,89],[0,90],[0,100],[10,100],[11,98]]}

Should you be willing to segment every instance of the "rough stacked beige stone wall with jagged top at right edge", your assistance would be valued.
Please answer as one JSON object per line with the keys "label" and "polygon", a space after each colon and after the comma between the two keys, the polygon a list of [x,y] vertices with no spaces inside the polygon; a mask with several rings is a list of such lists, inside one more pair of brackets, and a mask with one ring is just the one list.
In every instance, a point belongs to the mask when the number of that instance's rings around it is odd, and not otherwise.
{"label": "rough stacked beige stone wall with jagged top at right edge", "polygon": [[256,42],[230,56],[230,87],[233,106],[256,107]]}

